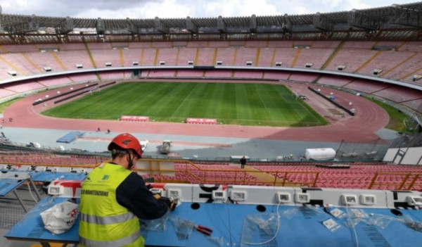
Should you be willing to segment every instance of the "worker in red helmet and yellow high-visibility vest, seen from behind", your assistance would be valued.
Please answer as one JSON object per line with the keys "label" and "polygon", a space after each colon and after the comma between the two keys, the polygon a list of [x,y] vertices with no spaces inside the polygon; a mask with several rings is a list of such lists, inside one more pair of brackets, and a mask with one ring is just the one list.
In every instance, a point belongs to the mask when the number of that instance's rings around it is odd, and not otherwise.
{"label": "worker in red helmet and yellow high-visibility vest, seen from behind", "polygon": [[175,204],[154,197],[132,170],[142,157],[132,134],[117,135],[108,145],[112,160],[92,170],[82,183],[79,246],[144,246],[139,218],[162,217]]}

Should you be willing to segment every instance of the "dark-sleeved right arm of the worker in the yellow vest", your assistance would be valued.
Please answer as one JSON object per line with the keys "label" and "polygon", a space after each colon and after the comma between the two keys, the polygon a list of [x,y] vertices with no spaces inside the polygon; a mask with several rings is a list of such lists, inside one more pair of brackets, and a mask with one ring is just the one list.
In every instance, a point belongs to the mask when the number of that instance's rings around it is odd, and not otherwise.
{"label": "dark-sleeved right arm of the worker in the yellow vest", "polygon": [[141,176],[132,172],[116,189],[117,202],[137,217],[153,220],[165,215],[168,205],[158,201],[146,188]]}

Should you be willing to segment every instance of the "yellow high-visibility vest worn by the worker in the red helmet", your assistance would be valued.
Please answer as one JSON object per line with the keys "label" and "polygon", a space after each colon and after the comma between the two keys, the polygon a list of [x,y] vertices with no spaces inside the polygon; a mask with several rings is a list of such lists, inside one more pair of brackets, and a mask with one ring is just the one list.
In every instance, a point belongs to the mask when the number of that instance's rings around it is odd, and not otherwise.
{"label": "yellow high-visibility vest worn by the worker in the red helmet", "polygon": [[117,203],[116,189],[131,171],[105,163],[82,183],[79,246],[144,246],[139,219]]}

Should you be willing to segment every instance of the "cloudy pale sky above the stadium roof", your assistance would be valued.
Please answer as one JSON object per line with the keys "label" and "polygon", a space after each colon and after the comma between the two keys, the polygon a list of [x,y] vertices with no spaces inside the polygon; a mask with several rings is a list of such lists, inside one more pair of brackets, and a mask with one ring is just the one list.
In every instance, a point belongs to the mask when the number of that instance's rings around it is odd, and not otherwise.
{"label": "cloudy pale sky above the stadium roof", "polygon": [[49,17],[151,19],[303,15],[379,8],[405,0],[0,0],[1,13]]}

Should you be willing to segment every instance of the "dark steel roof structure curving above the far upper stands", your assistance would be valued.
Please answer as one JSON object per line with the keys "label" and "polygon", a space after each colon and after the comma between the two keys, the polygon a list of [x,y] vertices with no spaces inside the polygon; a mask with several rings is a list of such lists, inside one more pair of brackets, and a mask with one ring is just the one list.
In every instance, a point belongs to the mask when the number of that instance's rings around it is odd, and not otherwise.
{"label": "dark steel roof structure curving above the far upper stands", "polygon": [[89,19],[0,13],[0,44],[98,42],[118,36],[133,41],[421,40],[421,28],[422,2],[333,13],[229,18]]}

